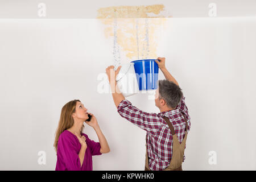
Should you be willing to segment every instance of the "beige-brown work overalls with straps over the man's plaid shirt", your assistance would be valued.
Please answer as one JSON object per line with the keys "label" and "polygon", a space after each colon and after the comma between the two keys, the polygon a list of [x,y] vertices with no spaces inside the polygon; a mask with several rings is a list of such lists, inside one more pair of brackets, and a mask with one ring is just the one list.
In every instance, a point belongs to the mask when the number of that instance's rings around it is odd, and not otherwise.
{"label": "beige-brown work overalls with straps over the man's plaid shirt", "polygon": [[[188,122],[187,122],[187,119],[185,118],[184,114],[183,114],[183,117],[185,119],[186,129],[185,129],[185,137],[183,138],[181,144],[180,144],[179,140],[177,139],[177,135],[175,134],[174,126],[172,126],[172,123],[170,122],[169,118],[163,117],[171,130],[171,134],[172,134],[172,138],[173,138],[172,159],[170,162],[170,166],[165,168],[164,171],[182,171],[181,164],[183,162],[185,144],[186,144],[186,140],[187,140],[187,131],[188,131]],[[148,167],[147,148],[146,148],[145,171],[150,171],[150,169]]]}

